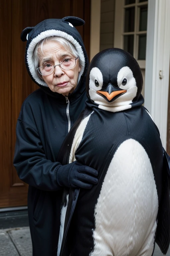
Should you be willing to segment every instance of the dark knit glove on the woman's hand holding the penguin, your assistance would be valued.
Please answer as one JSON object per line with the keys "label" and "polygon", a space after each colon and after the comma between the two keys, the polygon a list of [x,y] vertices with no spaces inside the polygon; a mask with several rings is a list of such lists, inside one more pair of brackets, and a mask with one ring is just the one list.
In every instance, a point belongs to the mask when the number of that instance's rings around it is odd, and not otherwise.
{"label": "dark knit glove on the woman's hand holding the penguin", "polygon": [[98,172],[86,165],[82,165],[77,161],[57,166],[56,182],[60,186],[71,188],[87,188],[90,189],[93,184],[98,183]]}

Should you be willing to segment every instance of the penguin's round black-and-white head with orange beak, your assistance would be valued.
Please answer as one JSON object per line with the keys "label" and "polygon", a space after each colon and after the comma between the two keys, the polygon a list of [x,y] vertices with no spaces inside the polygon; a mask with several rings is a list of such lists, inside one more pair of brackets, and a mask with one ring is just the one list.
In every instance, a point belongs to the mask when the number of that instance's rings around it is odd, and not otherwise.
{"label": "penguin's round black-and-white head with orange beak", "polygon": [[131,108],[139,99],[142,85],[137,61],[122,49],[103,50],[90,63],[86,90],[101,109],[116,112]]}

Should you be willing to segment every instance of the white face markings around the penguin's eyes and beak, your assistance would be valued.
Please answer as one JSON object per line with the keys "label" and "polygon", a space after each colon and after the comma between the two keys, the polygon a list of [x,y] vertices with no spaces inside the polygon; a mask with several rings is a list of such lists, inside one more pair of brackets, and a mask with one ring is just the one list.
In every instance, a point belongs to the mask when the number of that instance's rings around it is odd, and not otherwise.
{"label": "white face markings around the penguin's eyes and beak", "polygon": [[[122,84],[124,79],[127,80],[127,83],[125,85]],[[95,85],[95,80],[97,80],[99,83],[98,87]],[[89,81],[89,95],[91,100],[99,104],[99,108],[111,112],[118,112],[131,108],[130,104],[132,103],[132,100],[137,94],[137,86],[136,80],[133,76],[133,72],[129,67],[126,66],[120,69],[117,75],[117,83],[119,88],[127,90],[127,92],[113,102],[108,102],[107,100],[105,100],[104,97],[96,93],[96,91],[101,90],[102,88],[103,76],[101,71],[97,67],[92,68],[92,70],[90,71]]]}

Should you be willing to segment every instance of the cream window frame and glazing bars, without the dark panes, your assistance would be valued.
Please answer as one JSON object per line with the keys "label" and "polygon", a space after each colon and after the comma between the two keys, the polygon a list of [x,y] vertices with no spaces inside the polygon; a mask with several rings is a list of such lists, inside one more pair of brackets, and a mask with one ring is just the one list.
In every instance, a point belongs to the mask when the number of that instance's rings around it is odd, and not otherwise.
{"label": "cream window frame and glazing bars, without the dark panes", "polygon": [[[133,57],[137,60],[141,69],[145,69],[145,60],[138,60],[138,35],[147,34],[147,31],[138,31],[139,27],[139,16],[140,16],[140,6],[148,5],[148,1],[138,3],[135,0],[134,4],[125,5],[125,0],[115,0],[115,35],[114,35],[114,47],[123,49],[124,46],[124,35],[134,35],[134,45],[133,45]],[[124,18],[125,18],[125,6],[135,7],[135,22],[134,22],[134,32],[124,32]]]}

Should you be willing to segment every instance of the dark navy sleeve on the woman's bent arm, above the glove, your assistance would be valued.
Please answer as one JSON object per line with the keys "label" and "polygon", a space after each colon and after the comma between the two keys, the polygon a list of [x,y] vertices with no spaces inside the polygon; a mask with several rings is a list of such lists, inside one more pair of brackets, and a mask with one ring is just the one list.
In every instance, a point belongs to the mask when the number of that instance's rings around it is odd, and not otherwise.
{"label": "dark navy sleeve on the woman's bent arm, above the glove", "polygon": [[61,186],[55,184],[55,175],[61,164],[46,159],[38,132],[18,120],[16,135],[14,166],[19,178],[42,190],[61,189]]}

